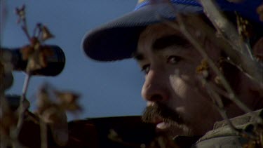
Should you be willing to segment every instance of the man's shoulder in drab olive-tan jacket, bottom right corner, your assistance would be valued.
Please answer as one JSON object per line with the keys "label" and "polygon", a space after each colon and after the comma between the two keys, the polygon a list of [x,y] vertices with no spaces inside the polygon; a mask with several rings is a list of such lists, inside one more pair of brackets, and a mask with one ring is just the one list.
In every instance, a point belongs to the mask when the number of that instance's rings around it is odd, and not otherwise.
{"label": "man's shoulder in drab olive-tan jacket, bottom right corner", "polygon": [[[255,126],[259,123],[256,116],[262,117],[263,109],[236,116],[233,119],[229,119],[229,121],[237,130],[250,133],[255,130]],[[193,147],[243,147],[248,142],[249,139],[247,137],[230,128],[228,121],[218,121],[215,123],[213,130],[203,135]]]}

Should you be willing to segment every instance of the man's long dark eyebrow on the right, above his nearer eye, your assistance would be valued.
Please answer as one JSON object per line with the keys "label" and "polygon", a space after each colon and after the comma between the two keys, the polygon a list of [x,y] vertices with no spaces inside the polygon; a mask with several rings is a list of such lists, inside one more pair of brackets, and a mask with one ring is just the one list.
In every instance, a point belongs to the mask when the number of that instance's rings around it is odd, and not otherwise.
{"label": "man's long dark eyebrow on the right, above his nearer eye", "polygon": [[163,48],[167,48],[169,46],[180,46],[183,48],[187,48],[191,45],[187,39],[184,39],[183,36],[172,34],[168,36],[163,36],[159,39],[156,39],[154,43],[152,43],[151,47],[153,51],[160,51]]}

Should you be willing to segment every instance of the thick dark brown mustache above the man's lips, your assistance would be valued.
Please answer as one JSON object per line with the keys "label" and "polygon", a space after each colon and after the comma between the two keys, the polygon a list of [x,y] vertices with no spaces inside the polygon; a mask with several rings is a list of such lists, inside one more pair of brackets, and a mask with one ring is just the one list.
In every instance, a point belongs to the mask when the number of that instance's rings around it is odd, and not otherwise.
{"label": "thick dark brown mustache above the man's lips", "polygon": [[162,104],[154,104],[146,107],[142,114],[142,121],[151,122],[156,117],[156,115],[160,116],[166,123],[184,123],[182,116],[180,116],[179,113]]}

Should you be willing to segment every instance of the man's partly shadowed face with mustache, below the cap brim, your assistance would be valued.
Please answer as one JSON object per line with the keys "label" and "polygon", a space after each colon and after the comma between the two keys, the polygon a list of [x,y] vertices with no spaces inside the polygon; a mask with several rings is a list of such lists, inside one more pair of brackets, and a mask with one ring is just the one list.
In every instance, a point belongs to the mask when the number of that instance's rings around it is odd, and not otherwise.
{"label": "man's partly shadowed face with mustache, below the cap brim", "polygon": [[220,114],[202,88],[196,67],[201,55],[182,34],[167,25],[151,25],[142,32],[135,59],[145,73],[142,118],[168,135],[202,135]]}

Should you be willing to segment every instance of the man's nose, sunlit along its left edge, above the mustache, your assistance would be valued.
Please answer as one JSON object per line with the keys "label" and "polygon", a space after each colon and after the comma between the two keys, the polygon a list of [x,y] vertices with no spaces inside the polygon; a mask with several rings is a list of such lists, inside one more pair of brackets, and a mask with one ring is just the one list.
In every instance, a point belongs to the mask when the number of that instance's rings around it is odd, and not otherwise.
{"label": "man's nose, sunlit along its left edge, above the mustache", "polygon": [[168,84],[169,81],[165,74],[150,70],[142,86],[142,97],[150,102],[168,100]]}

